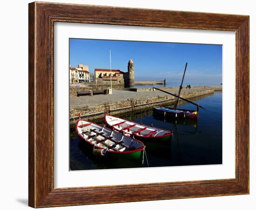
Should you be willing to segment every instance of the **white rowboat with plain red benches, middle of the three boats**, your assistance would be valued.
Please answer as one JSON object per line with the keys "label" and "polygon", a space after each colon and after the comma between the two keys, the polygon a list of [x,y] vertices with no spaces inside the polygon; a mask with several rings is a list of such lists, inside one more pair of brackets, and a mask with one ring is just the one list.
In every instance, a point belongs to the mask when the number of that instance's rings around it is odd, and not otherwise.
{"label": "white rowboat with plain red benches, middle of the three boats", "polygon": [[141,141],[166,141],[173,135],[172,131],[143,125],[126,119],[105,115],[105,122],[113,130]]}

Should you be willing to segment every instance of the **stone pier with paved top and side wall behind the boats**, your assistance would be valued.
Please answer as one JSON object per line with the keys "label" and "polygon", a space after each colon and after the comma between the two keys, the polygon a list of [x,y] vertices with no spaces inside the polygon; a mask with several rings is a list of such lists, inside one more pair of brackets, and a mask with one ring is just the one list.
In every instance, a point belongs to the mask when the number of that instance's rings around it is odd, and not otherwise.
{"label": "stone pier with paved top and side wall behind the boats", "polygon": [[[165,91],[177,94],[178,88],[162,88]],[[194,98],[213,93],[220,88],[194,87],[191,89],[182,89],[182,98]],[[72,115],[70,120],[77,119],[78,114],[81,118],[102,118],[105,112],[123,113],[135,110],[147,109],[155,105],[164,105],[174,103],[175,97],[160,91],[113,91],[112,95],[95,95],[70,97],[70,108]]]}

